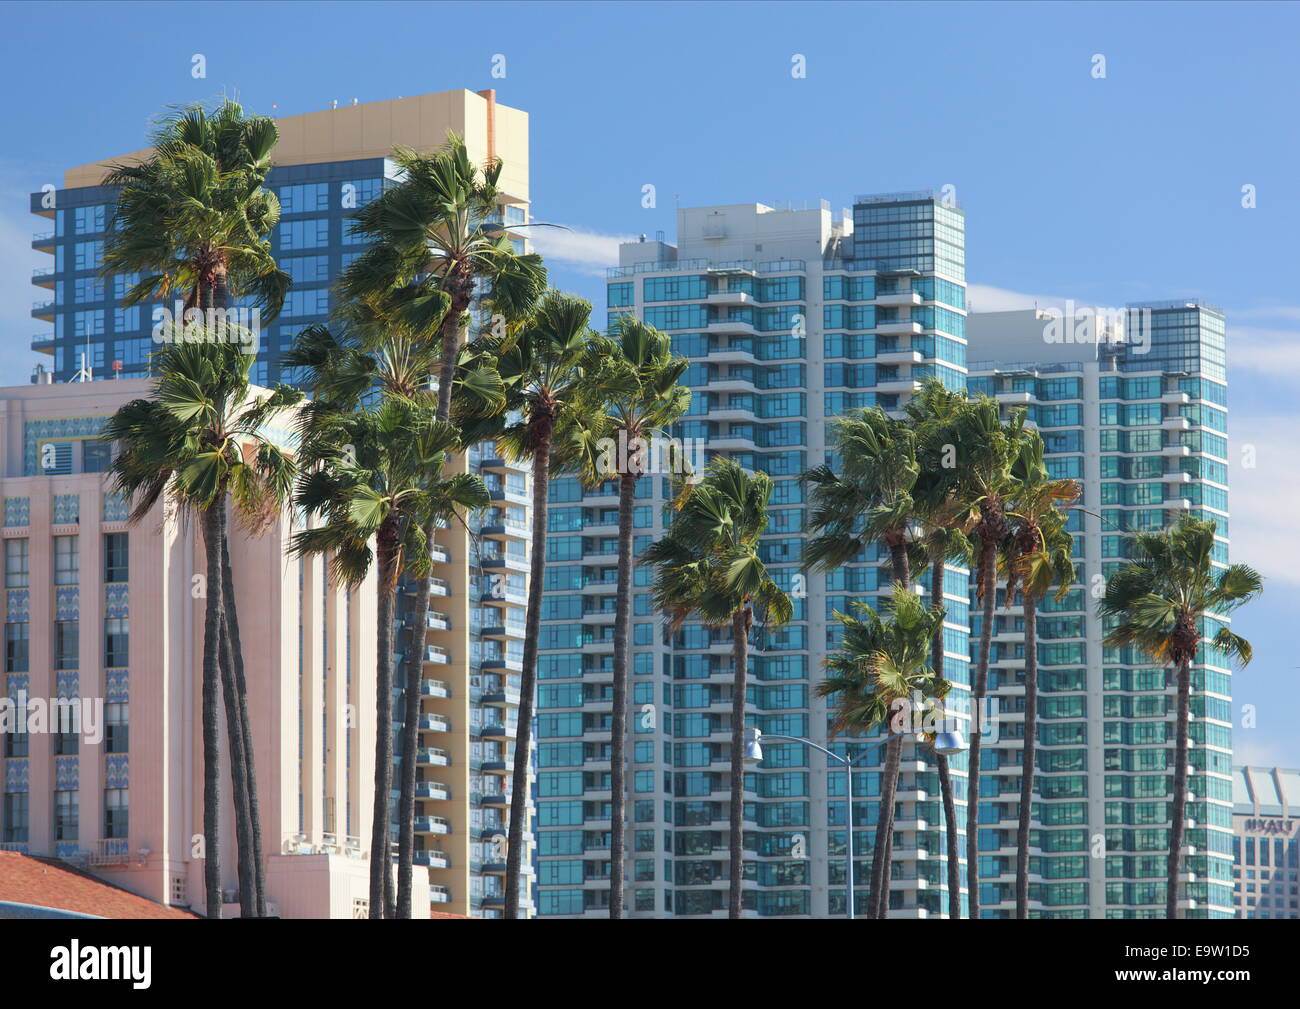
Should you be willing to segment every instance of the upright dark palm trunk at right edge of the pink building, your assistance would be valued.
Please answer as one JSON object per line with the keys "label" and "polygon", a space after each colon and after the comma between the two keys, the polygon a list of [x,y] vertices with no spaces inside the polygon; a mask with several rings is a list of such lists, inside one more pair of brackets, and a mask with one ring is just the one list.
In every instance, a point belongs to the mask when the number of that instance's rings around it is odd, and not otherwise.
{"label": "upright dark palm trunk at right edge of the pink building", "polygon": [[393,917],[393,845],[389,804],[393,794],[393,606],[396,599],[395,531],[380,531],[378,607],[374,676],[374,817],[370,824],[370,918]]}

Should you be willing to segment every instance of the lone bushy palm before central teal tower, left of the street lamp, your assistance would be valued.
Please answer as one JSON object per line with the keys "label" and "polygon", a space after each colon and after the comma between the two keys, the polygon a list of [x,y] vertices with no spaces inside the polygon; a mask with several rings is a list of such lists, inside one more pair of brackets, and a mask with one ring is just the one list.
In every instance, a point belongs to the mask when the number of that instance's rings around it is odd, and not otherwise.
{"label": "lone bushy palm before central teal tower, left of the street lamp", "polygon": [[793,615],[793,606],[758,555],[767,529],[772,478],[746,473],[731,459],[716,459],[679,504],[667,536],[651,544],[642,563],[656,567],[651,598],[668,615],[672,633],[694,614],[710,627],[731,624],[731,866],[728,918],[741,917],[745,815],[745,692],[749,635],[755,611],[772,627]]}

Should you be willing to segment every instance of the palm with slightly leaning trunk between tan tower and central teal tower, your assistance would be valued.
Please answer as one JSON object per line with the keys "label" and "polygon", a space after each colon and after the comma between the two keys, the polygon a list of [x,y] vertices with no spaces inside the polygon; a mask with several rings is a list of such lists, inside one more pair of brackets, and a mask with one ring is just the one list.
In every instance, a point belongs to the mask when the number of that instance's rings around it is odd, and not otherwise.
{"label": "palm with slightly leaning trunk between tan tower and central teal tower", "polygon": [[[532,459],[533,542],[528,576],[524,662],[519,685],[519,727],[511,778],[508,850],[506,853],[507,918],[519,917],[524,819],[528,810],[528,752],[532,744],[537,688],[537,641],[541,635],[542,589],[546,576],[546,521],[550,476],[577,464],[582,424],[576,413],[590,389],[585,364],[595,334],[588,326],[592,304],[571,294],[550,291],[532,317],[504,337],[484,334],[477,348],[497,356],[506,386],[506,412],[478,420],[465,417],[465,443],[489,437],[510,459]],[[586,404],[589,406],[589,403]]]}

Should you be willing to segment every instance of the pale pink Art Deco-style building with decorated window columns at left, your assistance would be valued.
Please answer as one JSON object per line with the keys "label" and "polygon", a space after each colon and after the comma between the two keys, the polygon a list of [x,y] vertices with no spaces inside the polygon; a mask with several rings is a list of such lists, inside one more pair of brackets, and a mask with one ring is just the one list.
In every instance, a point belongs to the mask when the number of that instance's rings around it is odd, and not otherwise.
{"label": "pale pink Art Deco-style building with decorated window columns at left", "polygon": [[[66,858],[202,913],[203,540],[170,504],[129,523],[99,441],[108,416],[146,393],[138,378],[0,390],[0,846]],[[260,537],[230,540],[266,892],[281,917],[364,917],[373,576],[330,588],[321,558],[287,554],[291,532],[286,515]],[[228,770],[221,788],[233,902]]]}

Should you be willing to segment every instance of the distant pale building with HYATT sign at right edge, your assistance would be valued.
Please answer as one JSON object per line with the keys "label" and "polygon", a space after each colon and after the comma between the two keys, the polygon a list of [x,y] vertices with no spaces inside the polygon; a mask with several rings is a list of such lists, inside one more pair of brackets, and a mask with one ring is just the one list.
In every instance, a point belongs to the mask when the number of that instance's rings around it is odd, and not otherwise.
{"label": "distant pale building with HYATT sign at right edge", "polygon": [[1232,768],[1238,918],[1300,918],[1300,771]]}

